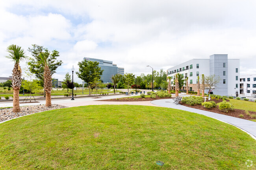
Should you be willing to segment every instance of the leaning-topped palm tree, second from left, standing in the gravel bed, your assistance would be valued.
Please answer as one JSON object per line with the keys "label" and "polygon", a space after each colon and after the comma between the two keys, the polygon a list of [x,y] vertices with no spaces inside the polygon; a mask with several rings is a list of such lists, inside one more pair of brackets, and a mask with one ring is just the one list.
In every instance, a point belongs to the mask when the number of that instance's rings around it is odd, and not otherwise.
{"label": "leaning-topped palm tree, second from left, standing in the gravel bed", "polygon": [[47,57],[45,56],[45,53],[40,53],[39,57],[41,58],[41,62],[45,66],[45,70],[44,70],[44,90],[46,93],[45,106],[50,107],[52,106],[52,102],[51,102],[52,75],[48,66],[48,61],[47,61]]}

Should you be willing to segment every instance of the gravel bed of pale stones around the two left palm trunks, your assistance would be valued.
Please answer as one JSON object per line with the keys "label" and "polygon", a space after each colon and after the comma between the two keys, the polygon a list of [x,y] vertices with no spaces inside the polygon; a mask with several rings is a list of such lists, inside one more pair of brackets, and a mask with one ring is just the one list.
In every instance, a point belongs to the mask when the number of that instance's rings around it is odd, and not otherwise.
{"label": "gravel bed of pale stones around the two left palm trunks", "polygon": [[67,107],[59,105],[59,104],[52,104],[51,107],[45,107],[45,105],[23,106],[23,107],[20,107],[19,113],[14,113],[13,108],[1,109],[0,110],[0,122],[7,121],[7,120],[13,119],[15,117],[30,115],[33,113],[43,112],[43,111],[47,111],[47,110],[61,109],[61,108],[67,108]]}

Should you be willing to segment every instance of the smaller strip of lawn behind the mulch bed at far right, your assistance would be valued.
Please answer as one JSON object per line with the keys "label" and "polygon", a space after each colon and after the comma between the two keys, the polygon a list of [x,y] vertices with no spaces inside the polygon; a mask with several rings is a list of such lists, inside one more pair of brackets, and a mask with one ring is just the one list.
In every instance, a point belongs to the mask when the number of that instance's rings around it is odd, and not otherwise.
{"label": "smaller strip of lawn behind the mulch bed at far right", "polygon": [[256,112],[256,102],[242,101],[237,99],[228,99],[233,104],[235,109],[248,110]]}

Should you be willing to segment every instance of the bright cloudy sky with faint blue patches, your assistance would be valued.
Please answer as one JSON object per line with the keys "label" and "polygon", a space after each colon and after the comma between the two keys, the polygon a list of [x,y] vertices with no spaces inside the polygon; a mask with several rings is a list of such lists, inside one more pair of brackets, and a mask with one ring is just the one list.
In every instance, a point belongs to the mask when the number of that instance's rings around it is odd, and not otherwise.
{"label": "bright cloudy sky with faint blue patches", "polygon": [[[57,79],[72,65],[78,70],[83,57],[140,75],[150,73],[147,65],[167,70],[228,54],[240,59],[240,74],[255,74],[255,9],[255,0],[0,0],[0,77],[11,75],[10,44],[58,50]],[[76,75],[74,81],[82,82]]]}

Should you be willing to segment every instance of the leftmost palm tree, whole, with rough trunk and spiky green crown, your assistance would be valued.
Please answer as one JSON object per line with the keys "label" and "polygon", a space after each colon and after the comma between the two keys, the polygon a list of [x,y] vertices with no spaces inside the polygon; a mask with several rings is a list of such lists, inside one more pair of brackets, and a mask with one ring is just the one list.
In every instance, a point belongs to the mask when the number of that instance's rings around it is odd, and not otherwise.
{"label": "leftmost palm tree, whole, with rough trunk and spiky green crown", "polygon": [[13,87],[13,112],[20,112],[20,102],[19,102],[19,90],[22,81],[22,73],[20,68],[20,61],[26,58],[24,49],[21,49],[20,46],[10,45],[7,47],[7,52],[9,53],[7,58],[14,61],[13,68],[13,79],[12,79],[12,87]]}

